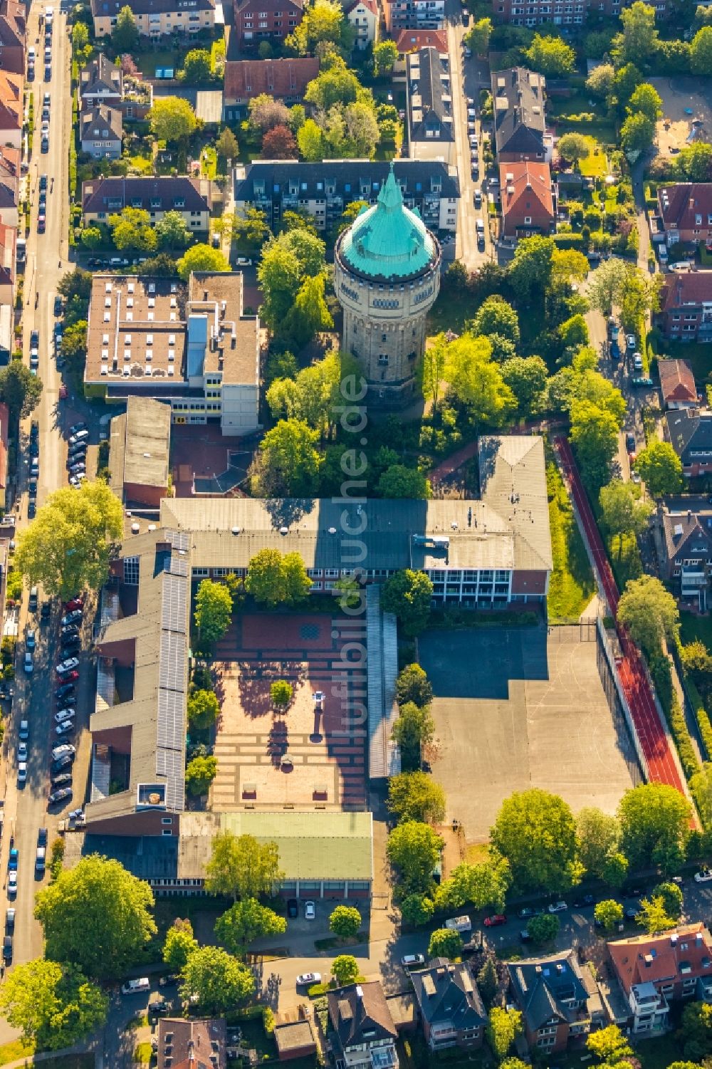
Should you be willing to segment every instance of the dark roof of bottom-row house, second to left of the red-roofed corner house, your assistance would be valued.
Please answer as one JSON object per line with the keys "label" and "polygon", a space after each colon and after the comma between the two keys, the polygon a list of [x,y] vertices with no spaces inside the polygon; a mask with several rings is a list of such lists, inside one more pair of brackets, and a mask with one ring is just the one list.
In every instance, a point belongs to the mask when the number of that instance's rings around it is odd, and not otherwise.
{"label": "dark roof of bottom-row house, second to left of the red-roofed corner house", "polygon": [[420,1012],[425,1021],[449,1021],[458,1031],[482,1027],[487,1014],[466,962],[436,958],[429,969],[412,973]]}

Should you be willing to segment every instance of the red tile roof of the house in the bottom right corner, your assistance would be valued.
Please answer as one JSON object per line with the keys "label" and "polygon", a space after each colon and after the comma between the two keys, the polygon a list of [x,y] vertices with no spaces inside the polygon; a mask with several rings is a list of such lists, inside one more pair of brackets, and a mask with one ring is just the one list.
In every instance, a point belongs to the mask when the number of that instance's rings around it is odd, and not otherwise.
{"label": "red tile roof of the house in the bottom right corner", "polygon": [[661,935],[617,940],[608,943],[608,954],[625,994],[634,983],[680,979],[682,964],[690,965],[686,976],[712,976],[712,943],[701,921]]}

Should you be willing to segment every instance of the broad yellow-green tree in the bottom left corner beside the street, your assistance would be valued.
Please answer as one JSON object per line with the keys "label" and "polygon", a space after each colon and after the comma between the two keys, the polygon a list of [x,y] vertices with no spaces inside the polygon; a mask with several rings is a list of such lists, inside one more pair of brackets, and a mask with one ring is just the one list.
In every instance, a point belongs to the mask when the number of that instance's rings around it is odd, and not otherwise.
{"label": "broad yellow-green tree in the bottom left corner beside the street", "polygon": [[0,1010],[43,1051],[74,1047],[106,1021],[108,995],[73,964],[35,958],[15,965],[0,988]]}

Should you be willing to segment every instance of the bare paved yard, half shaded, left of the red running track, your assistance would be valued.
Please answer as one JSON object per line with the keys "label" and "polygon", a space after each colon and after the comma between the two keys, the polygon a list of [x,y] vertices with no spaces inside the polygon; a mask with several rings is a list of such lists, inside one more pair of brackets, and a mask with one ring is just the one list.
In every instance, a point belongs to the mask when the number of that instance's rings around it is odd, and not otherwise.
{"label": "bare paved yard, half shaded, left of the red running track", "polygon": [[553,632],[478,628],[419,639],[435,694],[432,771],[445,788],[447,821],[461,821],[468,842],[486,840],[513,791],[540,787],[574,812],[587,805],[614,812],[632,786],[630,740],[614,726],[595,641],[560,641],[561,629]]}

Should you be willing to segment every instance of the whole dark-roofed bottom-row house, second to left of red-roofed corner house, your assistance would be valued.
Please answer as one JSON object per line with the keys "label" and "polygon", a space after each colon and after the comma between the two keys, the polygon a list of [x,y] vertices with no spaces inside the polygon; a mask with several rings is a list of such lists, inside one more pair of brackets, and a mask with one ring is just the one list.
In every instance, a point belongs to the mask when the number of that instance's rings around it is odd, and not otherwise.
{"label": "whole dark-roofed bottom-row house, second to left of red-roofed corner house", "polygon": [[411,979],[431,1051],[482,1045],[487,1013],[467,962],[435,958]]}

